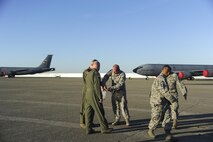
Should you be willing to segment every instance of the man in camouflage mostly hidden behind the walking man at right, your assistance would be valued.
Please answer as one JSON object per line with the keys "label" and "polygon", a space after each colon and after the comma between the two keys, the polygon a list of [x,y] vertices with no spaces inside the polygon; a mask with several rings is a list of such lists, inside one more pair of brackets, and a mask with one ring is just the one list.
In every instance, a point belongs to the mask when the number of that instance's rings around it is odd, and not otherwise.
{"label": "man in camouflage mostly hidden behind the walking man at right", "polygon": [[[179,80],[178,75],[176,73],[171,73],[167,77],[167,82],[170,94],[176,99],[176,103],[170,105],[172,112],[173,128],[176,129],[179,109],[177,86],[179,87],[180,92],[185,100],[187,99],[187,89],[183,82]],[[164,126],[164,123],[162,125]]]}

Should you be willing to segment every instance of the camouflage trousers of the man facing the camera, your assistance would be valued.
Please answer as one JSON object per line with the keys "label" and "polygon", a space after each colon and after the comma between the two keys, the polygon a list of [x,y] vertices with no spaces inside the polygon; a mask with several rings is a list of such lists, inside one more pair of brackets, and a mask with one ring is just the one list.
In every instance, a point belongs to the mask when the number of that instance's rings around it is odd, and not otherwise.
{"label": "camouflage trousers of the man facing the camera", "polygon": [[120,121],[121,113],[125,120],[129,120],[129,110],[127,105],[126,95],[119,94],[114,92],[112,94],[112,109],[116,121]]}

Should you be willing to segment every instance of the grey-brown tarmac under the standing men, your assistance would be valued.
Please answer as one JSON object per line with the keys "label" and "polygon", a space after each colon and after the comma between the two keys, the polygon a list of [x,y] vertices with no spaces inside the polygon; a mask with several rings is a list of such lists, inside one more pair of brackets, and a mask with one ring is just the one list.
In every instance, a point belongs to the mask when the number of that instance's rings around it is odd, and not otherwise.
{"label": "grey-brown tarmac under the standing men", "polygon": [[[0,78],[0,142],[161,142],[159,126],[156,140],[147,136],[150,120],[149,92],[153,79],[128,79],[128,105],[131,126],[113,126],[112,134],[86,135],[79,127],[82,99],[81,78]],[[179,96],[178,129],[174,141],[213,141],[213,81],[185,81],[189,94]],[[114,120],[111,94],[104,100],[106,118]],[[110,125],[110,127],[112,127]]]}

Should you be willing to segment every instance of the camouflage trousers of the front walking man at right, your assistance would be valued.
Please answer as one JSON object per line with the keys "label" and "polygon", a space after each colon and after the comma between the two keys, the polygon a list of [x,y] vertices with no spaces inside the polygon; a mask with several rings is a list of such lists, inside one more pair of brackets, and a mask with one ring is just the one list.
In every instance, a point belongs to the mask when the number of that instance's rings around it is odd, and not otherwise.
{"label": "camouflage trousers of the front walking man at right", "polygon": [[[151,120],[149,122],[149,129],[155,130],[159,123],[161,122],[162,118],[164,118],[164,130],[170,131],[172,129],[171,124],[171,108],[167,107],[167,110],[163,112],[163,108],[166,104],[153,104],[151,103]],[[170,105],[169,105],[170,106]]]}

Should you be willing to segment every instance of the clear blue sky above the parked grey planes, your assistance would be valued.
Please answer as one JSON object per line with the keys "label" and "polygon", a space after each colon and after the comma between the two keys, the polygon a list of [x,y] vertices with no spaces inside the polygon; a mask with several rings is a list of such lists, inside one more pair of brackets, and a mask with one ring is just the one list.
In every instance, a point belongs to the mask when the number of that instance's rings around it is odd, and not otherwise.
{"label": "clear blue sky above the parked grey planes", "polygon": [[0,0],[0,66],[213,64],[212,0]]}

